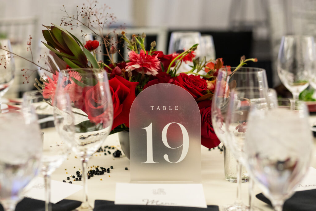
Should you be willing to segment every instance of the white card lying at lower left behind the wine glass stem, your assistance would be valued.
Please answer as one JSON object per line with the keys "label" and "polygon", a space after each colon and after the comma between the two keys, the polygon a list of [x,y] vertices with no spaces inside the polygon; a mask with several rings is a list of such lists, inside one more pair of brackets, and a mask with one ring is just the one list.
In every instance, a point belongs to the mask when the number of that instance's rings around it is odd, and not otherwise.
{"label": "white card lying at lower left behind the wine glass stem", "polygon": [[[45,201],[44,178],[35,177],[25,189],[25,197]],[[55,204],[81,189],[81,185],[70,184],[68,181],[64,183],[51,180],[51,202]]]}

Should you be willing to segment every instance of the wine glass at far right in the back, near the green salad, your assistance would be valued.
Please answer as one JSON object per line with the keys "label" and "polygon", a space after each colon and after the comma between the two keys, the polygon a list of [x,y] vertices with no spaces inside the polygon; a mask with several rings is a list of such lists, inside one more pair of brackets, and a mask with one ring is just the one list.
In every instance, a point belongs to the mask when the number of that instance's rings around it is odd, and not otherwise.
{"label": "wine glass at far right in the back, near the green salad", "polygon": [[308,87],[315,72],[315,44],[313,36],[283,36],[277,59],[277,73],[290,90],[294,100]]}

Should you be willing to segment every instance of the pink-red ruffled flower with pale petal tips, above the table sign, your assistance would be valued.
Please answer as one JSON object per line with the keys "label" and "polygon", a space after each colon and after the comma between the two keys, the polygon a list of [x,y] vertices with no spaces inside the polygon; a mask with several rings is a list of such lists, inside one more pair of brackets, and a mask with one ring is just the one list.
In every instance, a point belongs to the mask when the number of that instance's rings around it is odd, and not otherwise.
{"label": "pink-red ruffled flower with pale petal tips, above the table sign", "polygon": [[151,56],[145,51],[140,50],[140,53],[137,54],[135,51],[128,52],[128,57],[130,62],[126,63],[125,69],[136,70],[137,72],[144,71],[147,75],[157,75],[160,61],[156,56]]}

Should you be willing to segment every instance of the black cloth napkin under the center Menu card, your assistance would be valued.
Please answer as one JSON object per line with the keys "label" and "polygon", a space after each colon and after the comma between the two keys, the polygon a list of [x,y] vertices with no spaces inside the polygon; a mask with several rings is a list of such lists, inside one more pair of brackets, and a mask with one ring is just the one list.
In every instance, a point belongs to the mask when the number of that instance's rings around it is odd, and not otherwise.
{"label": "black cloth napkin under the center Menu card", "polygon": [[207,208],[196,207],[173,207],[173,206],[154,206],[154,205],[123,205],[114,204],[112,201],[95,200],[94,211],[219,211],[218,206],[208,205]]}

